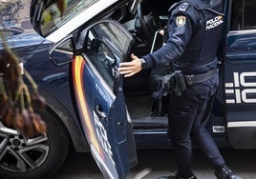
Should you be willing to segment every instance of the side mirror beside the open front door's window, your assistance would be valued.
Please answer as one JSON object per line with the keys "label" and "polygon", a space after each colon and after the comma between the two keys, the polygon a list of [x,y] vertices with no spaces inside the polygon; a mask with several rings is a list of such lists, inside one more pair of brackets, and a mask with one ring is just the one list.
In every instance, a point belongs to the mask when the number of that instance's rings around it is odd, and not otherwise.
{"label": "side mirror beside the open front door's window", "polygon": [[54,44],[49,53],[50,60],[57,66],[70,63],[75,57],[75,42],[73,36],[68,36]]}

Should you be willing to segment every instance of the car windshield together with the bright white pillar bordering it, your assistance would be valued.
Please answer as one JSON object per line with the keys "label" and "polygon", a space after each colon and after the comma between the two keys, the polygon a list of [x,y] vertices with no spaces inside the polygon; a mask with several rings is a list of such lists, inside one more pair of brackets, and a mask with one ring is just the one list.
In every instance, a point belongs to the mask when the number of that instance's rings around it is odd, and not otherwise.
{"label": "car windshield together with the bright white pillar bordering it", "polygon": [[98,13],[125,0],[32,0],[33,29],[58,42]]}

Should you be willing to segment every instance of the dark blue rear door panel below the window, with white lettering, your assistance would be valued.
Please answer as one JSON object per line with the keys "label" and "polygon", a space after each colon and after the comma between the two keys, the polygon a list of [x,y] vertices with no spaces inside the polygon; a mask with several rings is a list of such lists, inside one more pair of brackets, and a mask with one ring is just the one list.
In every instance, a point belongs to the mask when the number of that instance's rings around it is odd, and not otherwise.
{"label": "dark blue rear door panel below the window, with white lettering", "polygon": [[224,61],[224,91],[229,143],[252,149],[256,129],[256,31],[230,33]]}

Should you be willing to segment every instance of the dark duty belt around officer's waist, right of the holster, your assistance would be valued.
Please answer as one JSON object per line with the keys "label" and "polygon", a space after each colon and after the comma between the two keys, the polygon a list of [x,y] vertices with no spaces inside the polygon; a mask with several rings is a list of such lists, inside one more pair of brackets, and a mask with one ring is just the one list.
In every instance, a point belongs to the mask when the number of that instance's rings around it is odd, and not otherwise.
{"label": "dark duty belt around officer's waist, right of the holster", "polygon": [[217,72],[218,69],[216,68],[213,70],[209,70],[203,74],[190,74],[184,75],[184,77],[187,85],[194,85],[211,79]]}

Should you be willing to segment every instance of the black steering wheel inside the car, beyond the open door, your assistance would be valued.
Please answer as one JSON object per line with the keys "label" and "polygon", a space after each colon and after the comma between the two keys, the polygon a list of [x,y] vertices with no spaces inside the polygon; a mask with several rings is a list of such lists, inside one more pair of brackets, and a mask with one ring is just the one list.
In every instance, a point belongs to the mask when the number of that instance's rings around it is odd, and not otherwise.
{"label": "black steering wheel inside the car, beyond the open door", "polygon": [[143,39],[145,40],[147,46],[151,47],[153,43],[154,35],[157,30],[162,30],[161,22],[158,14],[154,10],[146,10],[143,7],[143,2],[141,1],[138,5],[138,18],[139,25],[141,29],[141,34]]}

